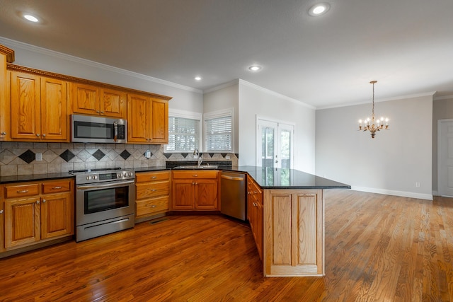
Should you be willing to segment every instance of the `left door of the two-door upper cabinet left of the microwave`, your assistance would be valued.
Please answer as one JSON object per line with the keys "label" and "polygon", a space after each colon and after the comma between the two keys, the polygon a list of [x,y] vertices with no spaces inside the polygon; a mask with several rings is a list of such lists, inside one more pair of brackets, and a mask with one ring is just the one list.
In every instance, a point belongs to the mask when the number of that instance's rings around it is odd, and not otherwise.
{"label": "left door of the two-door upper cabinet left of the microwave", "polygon": [[11,72],[11,138],[40,139],[40,77]]}

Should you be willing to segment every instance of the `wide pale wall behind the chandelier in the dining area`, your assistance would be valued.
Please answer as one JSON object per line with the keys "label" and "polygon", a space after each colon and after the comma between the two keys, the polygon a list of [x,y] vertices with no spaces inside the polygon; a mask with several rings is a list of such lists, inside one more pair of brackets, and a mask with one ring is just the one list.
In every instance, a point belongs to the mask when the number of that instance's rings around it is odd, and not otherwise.
{"label": "wide pale wall behind the chandelier in the dining area", "polygon": [[374,139],[357,131],[371,110],[369,103],[316,111],[316,175],[356,190],[432,199],[432,95],[376,103],[390,129]]}

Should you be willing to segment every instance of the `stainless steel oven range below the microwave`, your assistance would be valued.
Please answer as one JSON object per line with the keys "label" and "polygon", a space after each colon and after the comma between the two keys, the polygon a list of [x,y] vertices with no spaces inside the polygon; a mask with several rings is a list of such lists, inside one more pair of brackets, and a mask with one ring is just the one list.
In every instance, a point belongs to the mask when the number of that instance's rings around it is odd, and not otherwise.
{"label": "stainless steel oven range below the microwave", "polygon": [[133,170],[72,170],[76,177],[76,241],[134,227]]}

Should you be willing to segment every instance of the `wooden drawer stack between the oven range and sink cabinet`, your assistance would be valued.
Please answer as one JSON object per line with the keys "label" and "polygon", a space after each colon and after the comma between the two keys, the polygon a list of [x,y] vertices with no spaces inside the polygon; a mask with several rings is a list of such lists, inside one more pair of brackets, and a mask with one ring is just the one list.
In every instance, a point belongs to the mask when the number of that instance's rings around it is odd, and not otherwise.
{"label": "wooden drawer stack between the oven range and sink cabinet", "polygon": [[170,209],[170,171],[136,174],[135,217],[164,213]]}

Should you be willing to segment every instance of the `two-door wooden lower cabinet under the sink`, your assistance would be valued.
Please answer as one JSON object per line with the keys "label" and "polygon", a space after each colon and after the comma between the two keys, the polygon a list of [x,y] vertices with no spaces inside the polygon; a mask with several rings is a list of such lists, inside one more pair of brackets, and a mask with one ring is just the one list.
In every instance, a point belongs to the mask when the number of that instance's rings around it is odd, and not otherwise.
{"label": "two-door wooden lower cabinet under the sink", "polygon": [[218,210],[217,170],[173,170],[174,210]]}

